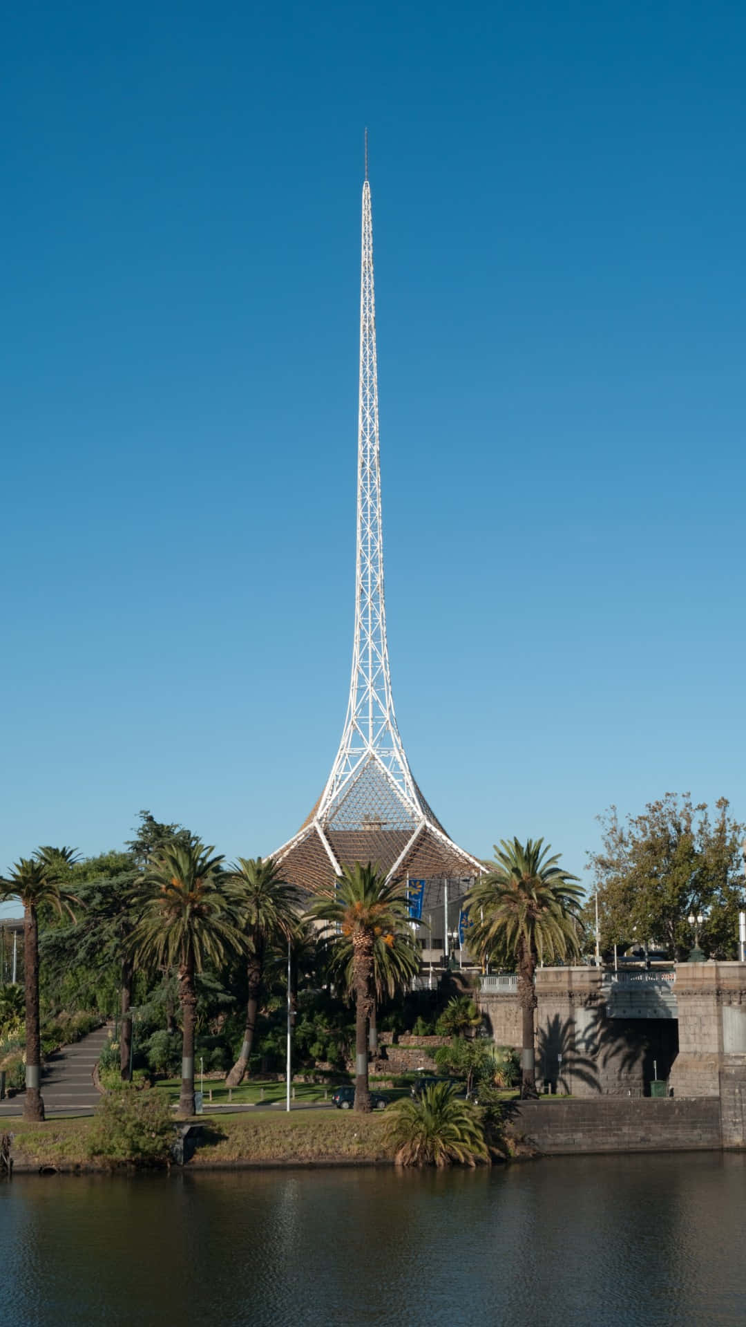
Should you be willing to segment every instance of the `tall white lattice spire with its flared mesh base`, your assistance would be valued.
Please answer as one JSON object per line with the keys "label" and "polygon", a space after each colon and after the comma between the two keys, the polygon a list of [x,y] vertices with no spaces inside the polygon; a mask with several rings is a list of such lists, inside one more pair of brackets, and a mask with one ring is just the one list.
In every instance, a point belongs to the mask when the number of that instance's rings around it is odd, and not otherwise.
{"label": "tall white lattice spire with its flared mesh base", "polygon": [[[287,878],[327,890],[344,864],[374,861],[389,876],[466,882],[483,867],[458,848],[425,802],[400,736],[386,642],[373,219],[368,163],[362,186],[357,576],[352,677],[332,772],[304,825],[276,853]],[[433,893],[431,888],[427,890]],[[434,901],[434,900],[433,900]]]}

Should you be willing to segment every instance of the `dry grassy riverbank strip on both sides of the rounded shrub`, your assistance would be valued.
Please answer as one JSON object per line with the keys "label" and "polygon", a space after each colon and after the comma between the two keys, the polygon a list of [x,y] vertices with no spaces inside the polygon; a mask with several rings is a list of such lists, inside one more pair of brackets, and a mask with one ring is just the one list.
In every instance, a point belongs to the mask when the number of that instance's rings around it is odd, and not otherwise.
{"label": "dry grassy riverbank strip on both sides of the rounded shrub", "polygon": [[[381,1115],[358,1116],[341,1111],[299,1111],[289,1115],[200,1116],[203,1144],[188,1162],[190,1169],[210,1165],[265,1162],[369,1162],[390,1160],[382,1143]],[[13,1133],[16,1168],[58,1170],[109,1169],[90,1156],[93,1120],[46,1120],[44,1124],[8,1121]]]}

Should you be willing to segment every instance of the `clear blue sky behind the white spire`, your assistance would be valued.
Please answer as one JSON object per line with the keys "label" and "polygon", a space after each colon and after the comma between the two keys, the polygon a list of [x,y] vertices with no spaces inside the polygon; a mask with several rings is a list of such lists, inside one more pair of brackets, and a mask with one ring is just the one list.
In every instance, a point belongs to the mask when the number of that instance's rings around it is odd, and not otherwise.
{"label": "clear blue sky behind the white spire", "polygon": [[3,31],[0,869],[269,853],[341,733],[362,129],[400,727],[477,855],[743,774],[735,3]]}

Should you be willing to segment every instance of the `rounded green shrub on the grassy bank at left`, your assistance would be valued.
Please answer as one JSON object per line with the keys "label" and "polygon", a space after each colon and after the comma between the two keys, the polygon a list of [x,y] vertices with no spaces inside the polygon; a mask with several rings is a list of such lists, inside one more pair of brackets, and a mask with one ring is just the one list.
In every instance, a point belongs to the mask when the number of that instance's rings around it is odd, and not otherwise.
{"label": "rounded green shrub on the grassy bank at left", "polygon": [[101,1099],[89,1135],[92,1157],[113,1165],[167,1165],[173,1143],[166,1093],[119,1087]]}

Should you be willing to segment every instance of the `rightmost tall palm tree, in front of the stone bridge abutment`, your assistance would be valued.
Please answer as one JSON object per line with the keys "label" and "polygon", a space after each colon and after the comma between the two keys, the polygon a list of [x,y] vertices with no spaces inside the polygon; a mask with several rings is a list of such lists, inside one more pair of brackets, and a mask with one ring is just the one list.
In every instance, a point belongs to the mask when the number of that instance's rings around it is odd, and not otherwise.
{"label": "rightmost tall palm tree, in front of the stone bridge abutment", "polygon": [[523,1014],[522,1096],[536,1096],[534,1010],[536,963],[567,958],[579,950],[577,914],[583,889],[577,876],[558,867],[544,840],[514,839],[495,844],[492,871],[470,890],[466,906],[475,918],[470,949],[482,961],[507,959],[518,971],[518,999]]}

